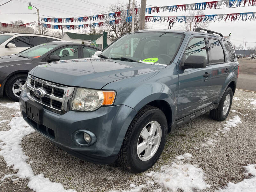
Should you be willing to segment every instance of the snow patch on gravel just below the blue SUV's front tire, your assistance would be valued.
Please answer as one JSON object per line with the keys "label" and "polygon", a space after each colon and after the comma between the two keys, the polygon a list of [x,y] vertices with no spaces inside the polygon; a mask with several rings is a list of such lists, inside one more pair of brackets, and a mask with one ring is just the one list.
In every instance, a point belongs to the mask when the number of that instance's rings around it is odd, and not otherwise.
{"label": "snow patch on gravel just below the blue SUV's front tire", "polygon": [[172,163],[161,167],[161,172],[151,171],[145,173],[153,177],[155,181],[170,191],[177,191],[178,188],[186,192],[203,190],[210,185],[204,182],[204,172],[196,165]]}

